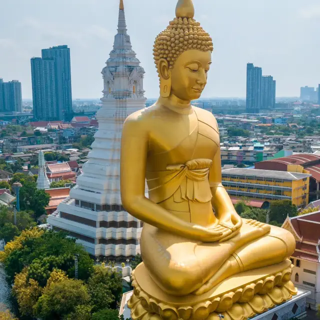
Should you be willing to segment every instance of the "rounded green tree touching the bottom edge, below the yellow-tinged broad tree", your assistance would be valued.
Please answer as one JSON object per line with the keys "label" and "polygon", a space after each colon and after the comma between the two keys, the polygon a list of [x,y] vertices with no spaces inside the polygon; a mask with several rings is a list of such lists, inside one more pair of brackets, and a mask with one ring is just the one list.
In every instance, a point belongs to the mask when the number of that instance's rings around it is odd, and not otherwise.
{"label": "rounded green tree touching the bottom edge, below the yellow-tinged broad tree", "polygon": [[80,305],[89,305],[90,295],[81,280],[65,279],[53,283],[39,297],[34,313],[44,320],[64,318]]}

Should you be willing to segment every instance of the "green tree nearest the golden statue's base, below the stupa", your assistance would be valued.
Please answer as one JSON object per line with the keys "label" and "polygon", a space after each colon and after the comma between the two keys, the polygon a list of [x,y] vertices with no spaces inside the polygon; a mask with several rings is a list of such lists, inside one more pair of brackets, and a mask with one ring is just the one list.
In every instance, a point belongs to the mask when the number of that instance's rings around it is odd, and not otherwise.
{"label": "green tree nearest the golden statue's base, below the stupa", "polygon": [[109,307],[115,309],[122,295],[121,274],[105,267],[104,264],[95,265],[87,287],[91,296],[92,311]]}

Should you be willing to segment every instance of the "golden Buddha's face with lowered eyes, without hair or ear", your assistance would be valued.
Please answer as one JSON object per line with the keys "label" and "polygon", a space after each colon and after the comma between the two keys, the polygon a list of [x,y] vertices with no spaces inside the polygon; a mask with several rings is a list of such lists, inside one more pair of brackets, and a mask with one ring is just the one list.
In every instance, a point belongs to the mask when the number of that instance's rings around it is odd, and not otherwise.
{"label": "golden Buddha's face with lowered eyes, without hair or ear", "polygon": [[206,85],[211,64],[211,51],[196,49],[181,53],[170,69],[171,94],[181,100],[198,99]]}

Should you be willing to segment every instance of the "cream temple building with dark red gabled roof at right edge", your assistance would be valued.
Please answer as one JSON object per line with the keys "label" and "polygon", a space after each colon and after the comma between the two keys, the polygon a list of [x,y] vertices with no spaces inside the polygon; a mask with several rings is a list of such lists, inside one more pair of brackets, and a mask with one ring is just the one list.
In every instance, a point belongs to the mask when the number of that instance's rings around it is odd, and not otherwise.
{"label": "cream temple building with dark red gabled roof at right edge", "polygon": [[320,211],[287,217],[282,228],[290,231],[296,241],[291,256],[294,265],[291,281],[296,287],[311,292],[306,306],[316,310],[320,303]]}

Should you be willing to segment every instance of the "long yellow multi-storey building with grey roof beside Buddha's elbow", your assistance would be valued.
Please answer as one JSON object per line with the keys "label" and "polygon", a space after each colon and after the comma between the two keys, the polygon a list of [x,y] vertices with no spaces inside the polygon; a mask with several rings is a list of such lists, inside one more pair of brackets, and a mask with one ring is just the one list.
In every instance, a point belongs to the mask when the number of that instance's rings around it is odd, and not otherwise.
{"label": "long yellow multi-storey building with grey roof beside Buddha's elbow", "polygon": [[222,170],[222,184],[230,196],[263,199],[289,199],[298,208],[309,200],[311,174],[272,170],[231,168]]}

